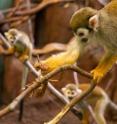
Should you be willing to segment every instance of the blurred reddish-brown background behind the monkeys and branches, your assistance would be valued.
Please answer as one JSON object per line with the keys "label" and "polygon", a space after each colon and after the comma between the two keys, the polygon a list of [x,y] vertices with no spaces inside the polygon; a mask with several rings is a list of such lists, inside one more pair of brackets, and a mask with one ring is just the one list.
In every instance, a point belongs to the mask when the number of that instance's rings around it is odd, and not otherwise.
{"label": "blurred reddish-brown background behind the monkeys and branches", "polygon": [[[47,4],[51,1],[51,4]],[[72,14],[86,6],[101,9],[109,0],[0,0],[0,32],[4,33],[9,28],[18,28],[28,33],[35,48],[42,48],[53,42],[68,43],[73,37],[69,27]],[[36,7],[38,6],[38,9]],[[30,16],[21,13],[33,8]],[[14,12],[17,14],[15,15]],[[55,51],[40,55],[45,58]],[[98,64],[103,48],[90,46],[77,62],[78,66],[90,72]],[[10,103],[20,92],[20,82],[23,66],[13,56],[0,56],[0,105],[1,108]],[[103,78],[100,83],[109,97],[117,103],[117,65]],[[28,77],[31,83],[34,75]],[[60,90],[68,83],[73,83],[73,72],[66,71],[54,77],[58,82],[52,82]],[[80,83],[90,83],[87,78],[78,75]],[[21,124],[42,124],[52,119],[63,107],[63,103],[52,95],[48,89],[42,98],[27,98],[24,107],[24,117]],[[50,111],[51,110],[51,111]],[[18,123],[18,109],[0,119],[0,124]],[[111,113],[111,114],[110,114]],[[117,123],[117,112],[110,108],[106,111],[108,124]],[[69,112],[61,124],[80,124],[80,120]],[[94,123],[92,123],[94,124]]]}

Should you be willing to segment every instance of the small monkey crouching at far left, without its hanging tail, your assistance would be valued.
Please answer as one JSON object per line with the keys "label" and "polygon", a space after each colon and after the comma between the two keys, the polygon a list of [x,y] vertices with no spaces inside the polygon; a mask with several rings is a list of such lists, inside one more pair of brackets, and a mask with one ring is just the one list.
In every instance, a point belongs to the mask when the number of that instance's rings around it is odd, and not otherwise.
{"label": "small monkey crouching at far left, without its hanging tail", "polygon": [[5,54],[15,53],[21,62],[31,59],[33,46],[27,34],[17,29],[10,29],[5,36],[11,44],[11,48]]}

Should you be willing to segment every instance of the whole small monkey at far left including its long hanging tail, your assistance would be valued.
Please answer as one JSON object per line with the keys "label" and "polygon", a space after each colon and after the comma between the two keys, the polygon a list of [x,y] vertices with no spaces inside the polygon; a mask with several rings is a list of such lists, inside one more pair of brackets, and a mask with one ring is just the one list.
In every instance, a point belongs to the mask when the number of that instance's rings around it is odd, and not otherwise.
{"label": "whole small monkey at far left including its long hanging tail", "polygon": [[[25,62],[27,60],[30,61],[32,57],[33,45],[30,42],[30,39],[27,34],[18,29],[10,29],[5,33],[7,40],[10,42],[11,47],[4,51],[5,54],[15,54],[21,62]],[[25,89],[25,84],[27,82],[29,69],[24,65],[22,81],[21,81],[21,90]],[[23,117],[23,103],[24,100],[20,102],[20,114],[19,120],[21,121]]]}

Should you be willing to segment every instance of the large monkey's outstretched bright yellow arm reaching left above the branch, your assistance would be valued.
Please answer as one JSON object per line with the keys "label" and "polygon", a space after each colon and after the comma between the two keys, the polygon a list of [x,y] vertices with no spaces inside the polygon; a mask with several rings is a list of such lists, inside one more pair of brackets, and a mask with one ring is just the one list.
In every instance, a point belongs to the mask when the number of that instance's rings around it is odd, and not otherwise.
{"label": "large monkey's outstretched bright yellow arm reaching left above the branch", "polygon": [[69,45],[68,49],[65,52],[58,53],[53,55],[46,60],[36,63],[36,68],[41,68],[47,72],[52,71],[53,69],[65,65],[65,64],[74,64],[79,57],[79,46],[76,40],[73,40]]}

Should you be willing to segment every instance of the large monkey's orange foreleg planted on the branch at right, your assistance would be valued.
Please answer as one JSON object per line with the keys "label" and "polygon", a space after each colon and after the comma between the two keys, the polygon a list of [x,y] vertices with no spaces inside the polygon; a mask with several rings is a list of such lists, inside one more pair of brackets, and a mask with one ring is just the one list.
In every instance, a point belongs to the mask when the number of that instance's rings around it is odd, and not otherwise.
{"label": "large monkey's orange foreleg planted on the branch at right", "polygon": [[99,65],[91,71],[93,79],[96,81],[100,81],[100,79],[111,69],[116,60],[117,55],[113,55],[110,53],[106,54]]}

